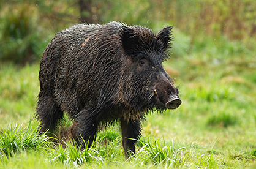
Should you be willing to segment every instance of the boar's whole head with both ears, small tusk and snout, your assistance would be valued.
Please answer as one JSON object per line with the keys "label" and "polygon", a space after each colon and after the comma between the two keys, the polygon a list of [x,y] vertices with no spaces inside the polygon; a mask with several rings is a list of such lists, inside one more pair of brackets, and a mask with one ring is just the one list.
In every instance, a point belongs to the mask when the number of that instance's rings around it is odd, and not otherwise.
{"label": "boar's whole head with both ears, small tusk and snout", "polygon": [[122,98],[139,111],[175,109],[181,105],[178,88],[162,62],[169,58],[172,26],[158,34],[141,26],[122,26],[126,60],[122,73]]}

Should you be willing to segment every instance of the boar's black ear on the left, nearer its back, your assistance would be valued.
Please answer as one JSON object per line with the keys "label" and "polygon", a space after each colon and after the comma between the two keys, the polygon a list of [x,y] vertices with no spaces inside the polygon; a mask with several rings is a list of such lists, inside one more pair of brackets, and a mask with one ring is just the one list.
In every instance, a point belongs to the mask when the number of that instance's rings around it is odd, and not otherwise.
{"label": "boar's black ear on the left, nearer its back", "polygon": [[138,36],[133,29],[128,26],[122,26],[122,45],[124,50],[130,50],[135,47],[138,42]]}

